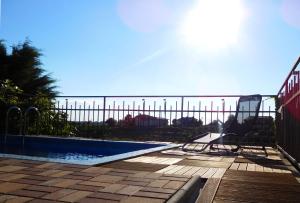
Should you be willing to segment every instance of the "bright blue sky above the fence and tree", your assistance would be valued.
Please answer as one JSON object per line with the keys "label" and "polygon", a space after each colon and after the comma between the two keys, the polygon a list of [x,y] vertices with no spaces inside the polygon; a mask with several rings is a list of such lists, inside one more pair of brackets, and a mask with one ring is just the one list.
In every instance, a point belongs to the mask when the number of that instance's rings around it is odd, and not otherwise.
{"label": "bright blue sky above the fence and tree", "polygon": [[2,0],[0,39],[29,38],[62,95],[276,94],[300,55],[299,1],[236,0],[237,28],[214,25],[225,6],[187,31],[201,1]]}

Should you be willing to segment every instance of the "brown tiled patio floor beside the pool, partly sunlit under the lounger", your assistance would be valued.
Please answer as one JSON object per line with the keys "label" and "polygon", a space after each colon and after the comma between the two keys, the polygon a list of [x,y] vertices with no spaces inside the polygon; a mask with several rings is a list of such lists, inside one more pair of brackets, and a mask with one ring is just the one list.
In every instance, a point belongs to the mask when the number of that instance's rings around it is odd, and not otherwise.
{"label": "brown tiled patio floor beside the pool, partly sunlit under the lounger", "polygon": [[[191,148],[201,146],[191,145]],[[296,170],[267,148],[237,154],[171,149],[99,167],[0,160],[0,202],[166,202],[193,176],[208,179],[199,202],[300,202]]]}

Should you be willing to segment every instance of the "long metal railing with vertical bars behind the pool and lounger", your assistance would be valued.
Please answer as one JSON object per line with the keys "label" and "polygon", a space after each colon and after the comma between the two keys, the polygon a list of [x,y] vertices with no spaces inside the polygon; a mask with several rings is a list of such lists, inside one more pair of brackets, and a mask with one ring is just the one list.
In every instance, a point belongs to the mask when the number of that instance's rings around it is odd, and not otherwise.
{"label": "long metal railing with vertical bars behind the pool and lounger", "polygon": [[[60,96],[54,110],[66,113],[68,121],[99,126],[125,125],[130,119],[136,127],[208,125],[235,114],[240,96]],[[274,95],[263,95],[259,116],[275,117]]]}

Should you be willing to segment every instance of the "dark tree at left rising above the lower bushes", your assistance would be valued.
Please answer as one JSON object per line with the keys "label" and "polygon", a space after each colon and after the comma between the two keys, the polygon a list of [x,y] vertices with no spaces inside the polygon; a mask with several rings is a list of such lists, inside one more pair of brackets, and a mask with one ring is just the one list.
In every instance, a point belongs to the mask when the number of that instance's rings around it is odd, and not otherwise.
{"label": "dark tree at left rising above the lower bushes", "polygon": [[23,95],[43,94],[49,98],[57,95],[55,80],[41,67],[41,51],[31,45],[29,40],[12,46],[8,50],[4,41],[0,41],[0,80],[9,79],[23,90]]}

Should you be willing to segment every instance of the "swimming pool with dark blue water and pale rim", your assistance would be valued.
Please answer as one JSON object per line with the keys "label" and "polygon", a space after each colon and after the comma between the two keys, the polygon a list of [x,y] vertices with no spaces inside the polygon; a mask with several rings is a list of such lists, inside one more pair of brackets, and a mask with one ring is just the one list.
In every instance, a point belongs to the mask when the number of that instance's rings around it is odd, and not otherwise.
{"label": "swimming pool with dark blue water and pale rim", "polygon": [[1,142],[0,157],[96,165],[175,147],[174,144],[60,138],[8,136]]}

